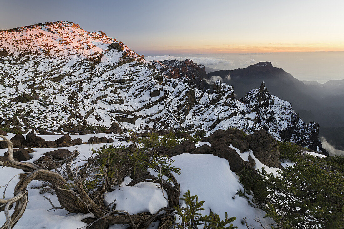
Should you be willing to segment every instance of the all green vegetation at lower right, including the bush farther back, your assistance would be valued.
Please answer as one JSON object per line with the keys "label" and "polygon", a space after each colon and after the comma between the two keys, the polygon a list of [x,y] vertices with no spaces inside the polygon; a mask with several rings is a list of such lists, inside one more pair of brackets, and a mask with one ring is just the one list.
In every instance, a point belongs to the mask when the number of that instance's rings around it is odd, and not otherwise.
{"label": "all green vegetation at lower right, including the bush farther back", "polygon": [[244,172],[240,194],[254,194],[250,204],[276,222],[272,228],[344,228],[344,158],[313,157],[302,150],[280,142],[280,159],[294,165],[278,176],[265,170],[256,176]]}

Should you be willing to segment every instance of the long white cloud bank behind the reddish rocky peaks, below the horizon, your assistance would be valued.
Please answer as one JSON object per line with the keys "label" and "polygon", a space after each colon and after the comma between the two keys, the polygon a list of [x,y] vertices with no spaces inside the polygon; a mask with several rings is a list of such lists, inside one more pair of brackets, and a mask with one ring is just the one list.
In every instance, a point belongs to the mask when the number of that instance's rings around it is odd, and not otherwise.
{"label": "long white cloud bank behind the reddish rocky peaks, below the horizon", "polygon": [[221,59],[221,58],[212,58],[212,57],[175,57],[175,56],[170,56],[170,55],[165,55],[165,56],[146,56],[144,57],[147,61],[151,60],[167,60],[167,59],[177,59],[179,61],[183,61],[186,59],[191,59],[193,60],[194,63],[197,63],[198,65],[218,65],[218,64],[223,64],[223,65],[234,65],[233,60],[226,60],[226,59]]}

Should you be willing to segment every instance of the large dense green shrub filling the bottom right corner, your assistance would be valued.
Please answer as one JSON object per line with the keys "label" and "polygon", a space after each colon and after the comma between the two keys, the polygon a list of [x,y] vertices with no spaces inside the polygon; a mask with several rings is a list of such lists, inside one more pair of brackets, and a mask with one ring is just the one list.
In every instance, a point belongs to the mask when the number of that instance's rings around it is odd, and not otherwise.
{"label": "large dense green shrub filling the bottom right corner", "polygon": [[268,205],[256,203],[276,228],[344,228],[344,178],[321,160],[300,154],[280,176],[267,174]]}

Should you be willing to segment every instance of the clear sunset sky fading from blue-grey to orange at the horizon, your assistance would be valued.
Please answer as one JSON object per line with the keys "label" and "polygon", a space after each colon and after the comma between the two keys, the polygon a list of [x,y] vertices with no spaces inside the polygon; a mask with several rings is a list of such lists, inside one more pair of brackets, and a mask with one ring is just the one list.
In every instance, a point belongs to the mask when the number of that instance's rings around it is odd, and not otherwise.
{"label": "clear sunset sky fading from blue-grey to orange at the horizon", "polygon": [[342,0],[0,0],[0,28],[66,20],[144,55],[344,51]]}

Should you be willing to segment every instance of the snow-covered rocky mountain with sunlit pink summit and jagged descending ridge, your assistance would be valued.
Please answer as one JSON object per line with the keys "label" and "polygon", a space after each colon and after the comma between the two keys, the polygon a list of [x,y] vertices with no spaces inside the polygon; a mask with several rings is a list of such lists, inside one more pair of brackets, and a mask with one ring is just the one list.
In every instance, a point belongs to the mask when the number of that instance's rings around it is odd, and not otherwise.
{"label": "snow-covered rocky mountain with sunlit pink summit and jagged descending ridge", "polygon": [[0,30],[0,124],[56,129],[117,122],[208,134],[265,128],[278,140],[322,150],[318,125],[303,123],[264,84],[239,101],[219,80],[206,89],[204,74],[192,60],[147,62],[104,32],[66,21]]}

